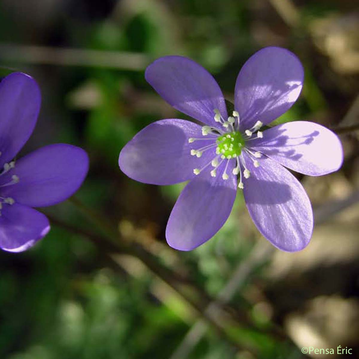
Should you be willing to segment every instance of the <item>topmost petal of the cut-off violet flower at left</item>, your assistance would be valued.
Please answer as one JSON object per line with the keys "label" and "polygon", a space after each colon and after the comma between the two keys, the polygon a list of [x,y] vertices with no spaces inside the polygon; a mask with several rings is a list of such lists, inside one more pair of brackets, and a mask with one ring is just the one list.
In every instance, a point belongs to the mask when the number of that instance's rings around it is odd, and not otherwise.
{"label": "topmost petal of the cut-off violet flower at left", "polygon": [[36,81],[12,73],[0,83],[0,166],[12,160],[29,139],[40,111],[41,94]]}

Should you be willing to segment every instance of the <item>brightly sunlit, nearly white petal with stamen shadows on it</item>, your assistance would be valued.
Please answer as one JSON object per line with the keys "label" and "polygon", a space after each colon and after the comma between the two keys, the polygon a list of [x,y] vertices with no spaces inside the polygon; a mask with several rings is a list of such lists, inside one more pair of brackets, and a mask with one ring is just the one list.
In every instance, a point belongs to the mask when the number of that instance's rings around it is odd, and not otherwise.
{"label": "brightly sunlit, nearly white petal with stamen shadows on it", "polygon": [[343,162],[338,136],[314,122],[295,121],[272,127],[251,144],[283,166],[310,176],[337,171]]}

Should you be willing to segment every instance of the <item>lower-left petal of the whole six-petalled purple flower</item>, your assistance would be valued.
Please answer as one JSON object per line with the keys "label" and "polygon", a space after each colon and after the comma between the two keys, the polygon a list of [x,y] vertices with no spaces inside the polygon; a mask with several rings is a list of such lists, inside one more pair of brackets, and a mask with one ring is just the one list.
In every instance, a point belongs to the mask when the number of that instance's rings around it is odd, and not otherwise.
{"label": "lower-left petal of the whole six-petalled purple flower", "polygon": [[[231,162],[234,160],[230,160]],[[173,207],[166,228],[167,243],[174,249],[190,251],[212,238],[223,226],[236,198],[237,177],[228,168],[228,180],[222,171],[211,177],[208,168],[183,189]],[[228,166],[229,167],[229,166]]]}

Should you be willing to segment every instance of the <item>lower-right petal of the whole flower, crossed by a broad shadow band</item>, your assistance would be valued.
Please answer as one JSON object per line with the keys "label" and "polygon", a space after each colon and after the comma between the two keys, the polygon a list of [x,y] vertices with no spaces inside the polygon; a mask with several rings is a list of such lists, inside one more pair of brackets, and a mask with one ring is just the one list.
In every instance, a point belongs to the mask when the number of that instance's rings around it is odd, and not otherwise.
{"label": "lower-right petal of the whole flower, crossed by a broad shadow band", "polygon": [[313,231],[313,211],[299,181],[282,165],[263,157],[244,180],[244,200],[254,224],[275,247],[287,252],[307,246]]}

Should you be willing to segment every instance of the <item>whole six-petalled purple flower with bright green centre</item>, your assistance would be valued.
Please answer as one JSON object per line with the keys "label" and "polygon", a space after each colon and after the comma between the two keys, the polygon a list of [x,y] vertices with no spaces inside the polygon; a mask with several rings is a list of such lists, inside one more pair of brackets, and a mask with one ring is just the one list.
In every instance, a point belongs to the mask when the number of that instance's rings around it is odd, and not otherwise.
{"label": "whole six-petalled purple flower with bright green centre", "polygon": [[200,246],[227,220],[239,187],[253,222],[275,247],[299,251],[313,230],[313,212],[298,180],[283,166],[320,176],[342,164],[338,137],[313,122],[261,131],[297,100],[303,67],[293,53],[266,47],[242,67],[228,117],[214,78],[196,62],[165,56],[146,80],[174,108],[204,123],[166,119],[141,130],[119,165],[136,181],[171,185],[190,180],[169,217],[166,238],[178,250]]}

